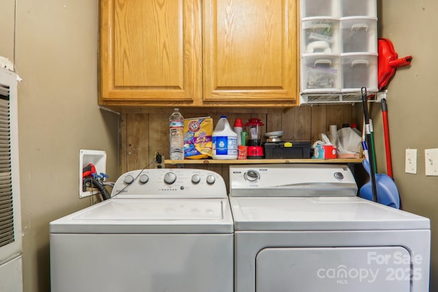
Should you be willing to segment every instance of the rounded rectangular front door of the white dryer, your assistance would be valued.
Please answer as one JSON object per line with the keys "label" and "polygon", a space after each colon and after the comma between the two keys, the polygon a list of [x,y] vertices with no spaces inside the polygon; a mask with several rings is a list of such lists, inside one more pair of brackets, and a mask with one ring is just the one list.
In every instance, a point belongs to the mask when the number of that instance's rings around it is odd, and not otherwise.
{"label": "rounded rectangular front door of the white dryer", "polygon": [[402,247],[266,248],[256,258],[256,291],[409,292],[422,276],[411,271],[413,259]]}

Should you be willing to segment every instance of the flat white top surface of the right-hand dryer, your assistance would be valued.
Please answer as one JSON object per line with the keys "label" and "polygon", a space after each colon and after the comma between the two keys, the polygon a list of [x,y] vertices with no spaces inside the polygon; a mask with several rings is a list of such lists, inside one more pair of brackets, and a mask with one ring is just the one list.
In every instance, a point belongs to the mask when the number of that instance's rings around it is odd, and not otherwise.
{"label": "flat white top surface of the right-hand dryer", "polygon": [[358,197],[231,197],[235,230],[430,229],[412,213]]}

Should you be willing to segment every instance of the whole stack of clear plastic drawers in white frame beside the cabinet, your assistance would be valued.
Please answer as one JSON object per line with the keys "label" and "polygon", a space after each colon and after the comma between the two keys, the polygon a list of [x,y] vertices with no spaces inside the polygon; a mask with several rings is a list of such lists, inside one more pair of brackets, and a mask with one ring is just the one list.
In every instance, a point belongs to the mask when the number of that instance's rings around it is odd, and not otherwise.
{"label": "whole stack of clear plastic drawers in white frame beside the cabinet", "polygon": [[378,91],[376,0],[300,0],[300,93]]}

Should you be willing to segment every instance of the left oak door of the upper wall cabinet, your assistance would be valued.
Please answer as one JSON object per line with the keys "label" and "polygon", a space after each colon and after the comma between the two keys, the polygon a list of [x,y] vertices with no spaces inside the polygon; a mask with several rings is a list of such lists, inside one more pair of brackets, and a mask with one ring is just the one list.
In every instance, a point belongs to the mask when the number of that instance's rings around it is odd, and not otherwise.
{"label": "left oak door of the upper wall cabinet", "polygon": [[196,104],[201,0],[101,0],[99,103]]}

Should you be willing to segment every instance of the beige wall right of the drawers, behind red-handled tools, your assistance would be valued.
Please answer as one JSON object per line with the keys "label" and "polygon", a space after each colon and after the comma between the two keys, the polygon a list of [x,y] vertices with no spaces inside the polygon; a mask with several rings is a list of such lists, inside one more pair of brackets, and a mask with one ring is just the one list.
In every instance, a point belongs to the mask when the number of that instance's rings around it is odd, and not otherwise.
{"label": "beige wall right of the drawers, behind red-handled tools", "polygon": [[[424,149],[438,148],[438,23],[436,0],[379,0],[380,37],[389,38],[398,57],[412,55],[389,83],[387,103],[394,181],[402,208],[429,217],[432,225],[430,291],[438,290],[438,176],[425,176]],[[378,169],[385,172],[380,105],[377,123]],[[417,174],[404,173],[404,152],[417,149]]]}

